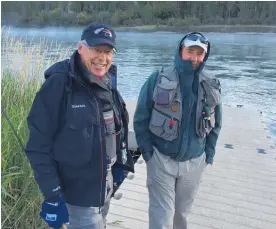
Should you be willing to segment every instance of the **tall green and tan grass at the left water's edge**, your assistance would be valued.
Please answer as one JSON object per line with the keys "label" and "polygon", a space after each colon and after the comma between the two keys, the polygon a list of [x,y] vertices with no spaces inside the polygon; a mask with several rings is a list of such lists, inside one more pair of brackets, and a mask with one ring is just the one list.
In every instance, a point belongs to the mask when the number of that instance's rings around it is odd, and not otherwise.
{"label": "tall green and tan grass at the left water's edge", "polygon": [[[52,50],[54,55],[49,56]],[[24,146],[29,134],[26,118],[43,82],[43,72],[68,57],[69,49],[49,45],[45,40],[30,44],[8,34],[2,38],[2,110]],[[26,154],[3,115],[1,122],[1,228],[47,228],[39,216],[43,198]]]}

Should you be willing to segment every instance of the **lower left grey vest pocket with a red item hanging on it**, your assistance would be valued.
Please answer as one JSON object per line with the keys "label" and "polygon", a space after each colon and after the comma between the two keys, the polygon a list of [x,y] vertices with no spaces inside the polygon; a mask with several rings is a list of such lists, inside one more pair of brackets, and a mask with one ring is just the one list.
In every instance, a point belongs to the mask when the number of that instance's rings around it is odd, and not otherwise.
{"label": "lower left grey vest pocket with a red item hanging on it", "polygon": [[178,137],[179,122],[153,109],[149,129],[156,136],[167,141],[172,141]]}

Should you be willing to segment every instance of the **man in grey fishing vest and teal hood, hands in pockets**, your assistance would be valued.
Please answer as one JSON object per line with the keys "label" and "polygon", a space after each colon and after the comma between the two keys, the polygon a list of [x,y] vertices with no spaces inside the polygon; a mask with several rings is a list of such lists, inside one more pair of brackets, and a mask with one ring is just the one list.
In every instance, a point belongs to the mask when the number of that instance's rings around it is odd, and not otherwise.
{"label": "man in grey fishing vest and teal hood, hands in pockets", "polygon": [[202,173],[221,129],[220,83],[203,72],[210,42],[184,36],[172,66],[143,85],[134,131],[147,165],[149,229],[187,229]]}

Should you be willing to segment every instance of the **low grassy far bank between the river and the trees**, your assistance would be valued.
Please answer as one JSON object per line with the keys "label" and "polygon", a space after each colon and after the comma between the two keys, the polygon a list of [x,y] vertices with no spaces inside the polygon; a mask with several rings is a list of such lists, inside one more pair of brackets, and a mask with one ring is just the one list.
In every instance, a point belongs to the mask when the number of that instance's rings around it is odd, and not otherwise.
{"label": "low grassy far bank between the river and the trees", "polygon": [[144,26],[123,26],[116,27],[116,31],[139,31],[139,32],[255,32],[255,33],[276,33],[275,25],[183,25],[183,26],[168,26],[168,25],[144,25]]}

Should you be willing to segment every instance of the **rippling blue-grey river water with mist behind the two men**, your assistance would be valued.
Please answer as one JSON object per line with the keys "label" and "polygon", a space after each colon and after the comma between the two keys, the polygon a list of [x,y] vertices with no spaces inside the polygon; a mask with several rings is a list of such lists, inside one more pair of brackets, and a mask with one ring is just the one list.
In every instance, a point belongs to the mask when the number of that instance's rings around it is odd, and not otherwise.
{"label": "rippling blue-grey river water with mist behind the two men", "polygon": [[[2,38],[6,28],[2,28]],[[9,36],[25,37],[33,45],[41,38],[61,43],[72,52],[80,28],[10,28]],[[118,88],[126,99],[137,99],[145,80],[161,66],[172,62],[177,42],[175,32],[117,32]],[[276,34],[205,33],[211,42],[206,71],[220,79],[224,104],[261,110],[276,139]],[[54,53],[55,50],[49,50]],[[4,60],[2,50],[2,67]],[[48,66],[45,66],[45,68]],[[43,77],[43,76],[41,76]]]}

